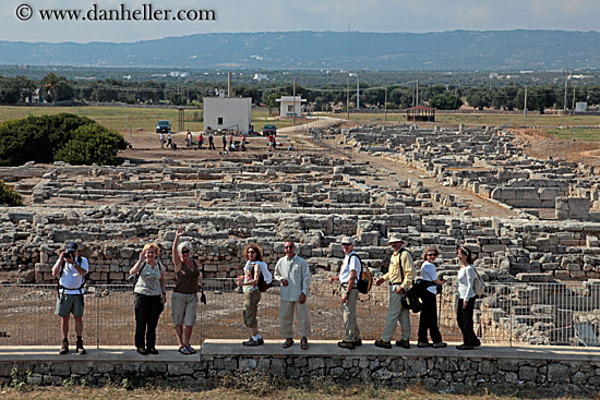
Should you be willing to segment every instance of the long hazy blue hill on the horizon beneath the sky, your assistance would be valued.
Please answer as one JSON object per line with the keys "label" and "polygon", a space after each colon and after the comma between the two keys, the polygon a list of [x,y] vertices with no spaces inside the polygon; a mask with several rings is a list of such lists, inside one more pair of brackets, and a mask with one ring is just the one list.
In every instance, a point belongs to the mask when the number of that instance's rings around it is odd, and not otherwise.
{"label": "long hazy blue hill on the horizon beneath the sky", "polygon": [[127,44],[0,41],[0,64],[265,70],[596,69],[600,66],[600,32],[263,32]]}

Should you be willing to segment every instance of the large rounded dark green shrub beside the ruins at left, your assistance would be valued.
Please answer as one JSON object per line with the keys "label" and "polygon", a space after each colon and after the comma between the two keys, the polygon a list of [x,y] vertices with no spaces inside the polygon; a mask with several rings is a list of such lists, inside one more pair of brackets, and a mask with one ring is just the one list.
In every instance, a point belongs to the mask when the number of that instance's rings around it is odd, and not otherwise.
{"label": "large rounded dark green shrub beside the ruins at left", "polygon": [[69,113],[29,116],[0,124],[0,166],[56,160],[113,165],[117,151],[125,147],[119,133]]}

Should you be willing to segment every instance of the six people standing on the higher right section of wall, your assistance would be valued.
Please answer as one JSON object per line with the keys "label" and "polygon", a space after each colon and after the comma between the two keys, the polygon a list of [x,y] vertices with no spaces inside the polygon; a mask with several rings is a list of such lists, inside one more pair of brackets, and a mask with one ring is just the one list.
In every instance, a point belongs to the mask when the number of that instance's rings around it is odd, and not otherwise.
{"label": "six people standing on the higher right section of wall", "polygon": [[[392,349],[392,338],[398,322],[400,323],[400,340],[396,346],[410,349],[410,310],[406,303],[406,293],[410,290],[416,278],[416,268],[412,255],[405,247],[405,241],[398,234],[392,234],[387,241],[393,250],[387,274],[375,281],[381,286],[387,281],[389,284],[389,305],[382,339],[375,341],[375,347]],[[360,328],[357,323],[358,280],[361,269],[364,267],[355,252],[352,238],[345,237],[341,240],[341,249],[345,253],[339,274],[329,277],[331,283],[338,282],[341,316],[344,320],[344,339],[337,344],[345,349],[355,349],[362,346]],[[247,264],[244,275],[238,277],[238,286],[243,288],[244,308],[243,320],[251,329],[251,337],[243,346],[262,346],[264,340],[259,332],[257,306],[261,300],[261,274],[263,280],[268,283],[272,279],[280,282],[280,307],[279,322],[281,337],[285,339],[285,349],[293,344],[291,331],[293,312],[298,315],[298,330],[301,337],[302,349],[309,348],[308,336],[310,332],[310,313],[307,299],[310,293],[311,275],[307,262],[296,254],[296,244],[292,241],[285,243],[286,256],[281,257],[275,266],[274,277],[268,271],[267,265],[263,262],[262,250],[257,244],[249,244],[245,250]],[[458,271],[458,307],[457,323],[463,332],[463,344],[457,346],[458,350],[471,350],[481,346],[473,330],[473,308],[476,294],[473,290],[475,268],[472,266],[471,252],[467,247],[458,247],[457,256],[461,263]],[[440,251],[435,246],[429,246],[423,252],[423,264],[421,266],[422,282],[427,289],[421,294],[422,311],[419,319],[419,348],[445,348],[447,343],[442,341],[442,334],[437,325],[436,294],[437,287],[446,283],[436,274],[435,258]],[[431,342],[429,341],[431,337]]]}

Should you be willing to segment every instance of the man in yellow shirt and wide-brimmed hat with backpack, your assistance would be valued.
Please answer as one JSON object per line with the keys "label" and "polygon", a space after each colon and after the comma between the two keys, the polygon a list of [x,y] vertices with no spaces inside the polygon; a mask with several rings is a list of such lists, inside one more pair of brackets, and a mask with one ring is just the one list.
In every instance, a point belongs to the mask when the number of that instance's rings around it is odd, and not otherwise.
{"label": "man in yellow shirt and wide-brimmed hat with backpack", "polygon": [[399,320],[401,340],[396,341],[396,346],[410,349],[410,314],[408,308],[403,307],[403,295],[412,287],[415,263],[410,252],[404,247],[405,242],[399,234],[392,233],[387,244],[394,250],[389,259],[389,268],[387,274],[375,281],[375,284],[380,286],[386,280],[389,282],[389,305],[382,339],[375,341],[375,347],[392,349],[391,341]]}

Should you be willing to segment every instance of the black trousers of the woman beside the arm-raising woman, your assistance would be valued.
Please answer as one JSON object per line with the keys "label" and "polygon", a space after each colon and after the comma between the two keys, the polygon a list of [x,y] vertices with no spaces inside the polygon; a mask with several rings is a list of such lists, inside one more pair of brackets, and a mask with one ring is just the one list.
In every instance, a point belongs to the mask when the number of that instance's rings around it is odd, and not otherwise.
{"label": "black trousers of the woman beside the arm-raising woman", "polygon": [[154,349],[156,347],[156,326],[165,306],[160,295],[135,293],[135,347]]}

